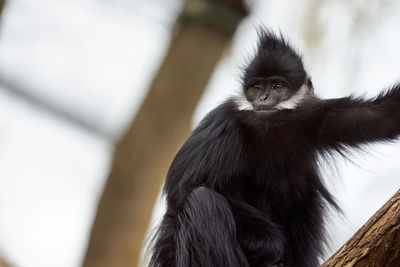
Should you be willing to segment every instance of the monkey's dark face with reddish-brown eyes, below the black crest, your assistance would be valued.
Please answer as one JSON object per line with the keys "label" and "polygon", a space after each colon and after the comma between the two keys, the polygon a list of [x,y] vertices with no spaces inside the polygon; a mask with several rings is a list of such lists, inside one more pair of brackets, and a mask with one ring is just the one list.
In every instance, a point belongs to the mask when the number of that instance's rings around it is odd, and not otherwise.
{"label": "monkey's dark face with reddish-brown eyes, below the black crest", "polygon": [[276,110],[279,103],[288,100],[294,94],[289,82],[280,76],[254,77],[245,87],[246,98],[255,111]]}

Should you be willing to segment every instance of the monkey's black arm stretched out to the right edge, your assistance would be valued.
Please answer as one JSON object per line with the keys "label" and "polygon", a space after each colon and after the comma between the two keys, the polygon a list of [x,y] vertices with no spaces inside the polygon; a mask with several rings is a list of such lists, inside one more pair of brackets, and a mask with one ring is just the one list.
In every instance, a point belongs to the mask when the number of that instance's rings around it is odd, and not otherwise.
{"label": "monkey's black arm stretched out to the right edge", "polygon": [[321,114],[317,138],[322,148],[394,139],[400,135],[400,85],[369,100],[324,100]]}

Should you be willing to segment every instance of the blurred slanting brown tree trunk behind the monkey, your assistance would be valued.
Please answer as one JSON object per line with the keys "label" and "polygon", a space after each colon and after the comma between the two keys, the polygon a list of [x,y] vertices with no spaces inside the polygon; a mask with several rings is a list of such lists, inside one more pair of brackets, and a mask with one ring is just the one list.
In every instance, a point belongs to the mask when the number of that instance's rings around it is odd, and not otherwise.
{"label": "blurred slanting brown tree trunk behind the monkey", "polygon": [[215,65],[246,14],[241,0],[223,2],[187,1],[159,73],[115,147],[83,266],[138,263],[168,167],[191,130],[192,113]]}

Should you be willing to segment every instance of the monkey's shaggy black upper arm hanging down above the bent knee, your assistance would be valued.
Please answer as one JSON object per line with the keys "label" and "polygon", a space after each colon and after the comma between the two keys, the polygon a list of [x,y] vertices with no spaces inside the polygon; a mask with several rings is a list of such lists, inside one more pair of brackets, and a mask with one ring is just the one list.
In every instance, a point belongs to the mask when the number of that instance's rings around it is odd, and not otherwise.
{"label": "monkey's shaggy black upper arm hanging down above the bent knee", "polygon": [[222,194],[241,191],[242,142],[228,104],[211,111],[175,156],[164,191],[169,205],[180,208],[196,187]]}

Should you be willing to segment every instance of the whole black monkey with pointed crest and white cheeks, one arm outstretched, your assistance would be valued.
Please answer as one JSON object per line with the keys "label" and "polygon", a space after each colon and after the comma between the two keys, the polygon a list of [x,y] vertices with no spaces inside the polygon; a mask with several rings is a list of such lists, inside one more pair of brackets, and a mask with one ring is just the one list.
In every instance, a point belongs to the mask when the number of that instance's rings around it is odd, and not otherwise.
{"label": "whole black monkey with pointed crest and white cheeks, one arm outstretched", "polygon": [[318,153],[400,134],[400,85],[374,99],[319,99],[301,57],[260,30],[243,92],[211,111],[177,153],[150,266],[318,266]]}

